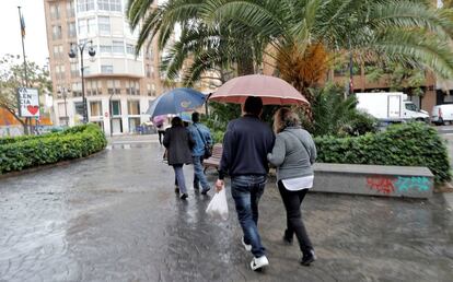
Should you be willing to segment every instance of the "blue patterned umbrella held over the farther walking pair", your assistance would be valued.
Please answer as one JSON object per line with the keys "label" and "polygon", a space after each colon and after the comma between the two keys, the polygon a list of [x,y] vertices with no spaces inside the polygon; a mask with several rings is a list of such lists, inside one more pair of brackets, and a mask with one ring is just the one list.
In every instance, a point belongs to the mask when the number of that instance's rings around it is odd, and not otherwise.
{"label": "blue patterned umbrella held over the farther walking pair", "polygon": [[151,117],[181,114],[201,106],[206,101],[205,94],[193,89],[174,89],[150,102],[147,110]]}

